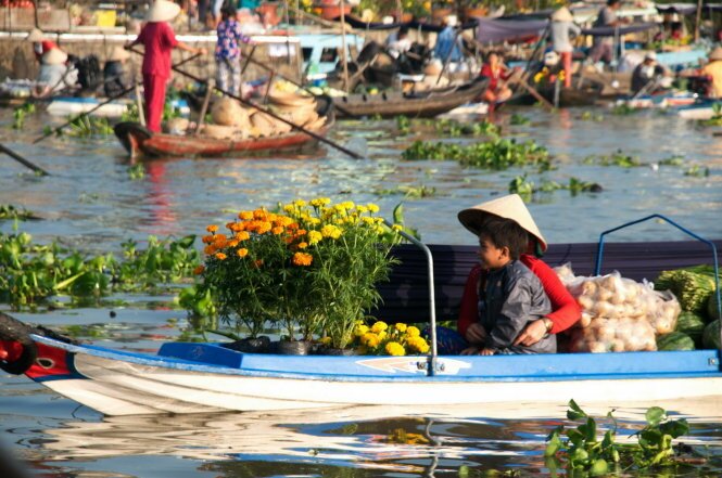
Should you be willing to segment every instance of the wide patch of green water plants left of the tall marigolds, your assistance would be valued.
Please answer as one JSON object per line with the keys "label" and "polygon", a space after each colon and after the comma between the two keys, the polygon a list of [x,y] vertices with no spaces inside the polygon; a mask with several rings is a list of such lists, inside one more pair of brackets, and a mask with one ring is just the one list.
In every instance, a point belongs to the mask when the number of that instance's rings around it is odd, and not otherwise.
{"label": "wide patch of green water plants left of the tall marigolds", "polygon": [[148,248],[123,244],[123,259],[112,254],[88,256],[62,247],[33,244],[30,234],[0,233],[0,301],[14,309],[36,308],[55,295],[100,298],[113,290],[141,292],[168,287],[192,276],[200,263],[195,236],[178,241],[148,238]]}

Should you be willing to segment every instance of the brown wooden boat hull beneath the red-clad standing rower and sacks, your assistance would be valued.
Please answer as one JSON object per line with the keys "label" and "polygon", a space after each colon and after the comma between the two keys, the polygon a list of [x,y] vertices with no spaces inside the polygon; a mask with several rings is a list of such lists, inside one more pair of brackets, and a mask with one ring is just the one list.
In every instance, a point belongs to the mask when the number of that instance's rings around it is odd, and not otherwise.
{"label": "brown wooden boat hull beneath the red-clad standing rower and sacks", "polygon": [[[332,101],[328,96],[318,96],[318,116],[326,117],[326,124],[313,131],[325,135],[333,126]],[[278,152],[296,152],[314,146],[317,139],[301,130],[288,133],[228,140],[203,135],[153,133],[137,122],[119,122],[114,128],[115,135],[131,158],[163,156],[253,156]]]}

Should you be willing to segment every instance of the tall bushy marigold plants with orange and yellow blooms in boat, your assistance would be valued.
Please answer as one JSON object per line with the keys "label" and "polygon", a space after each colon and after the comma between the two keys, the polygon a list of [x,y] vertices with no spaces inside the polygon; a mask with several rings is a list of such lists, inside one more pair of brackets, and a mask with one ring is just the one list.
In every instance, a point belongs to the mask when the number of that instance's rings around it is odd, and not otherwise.
{"label": "tall bushy marigold plants with orange and yellow blooms in boat", "polygon": [[318,334],[343,348],[394,262],[400,236],[378,211],[373,204],[297,199],[277,211],[243,210],[226,233],[211,224],[203,287],[214,290],[220,316],[251,336],[275,322],[290,339]]}

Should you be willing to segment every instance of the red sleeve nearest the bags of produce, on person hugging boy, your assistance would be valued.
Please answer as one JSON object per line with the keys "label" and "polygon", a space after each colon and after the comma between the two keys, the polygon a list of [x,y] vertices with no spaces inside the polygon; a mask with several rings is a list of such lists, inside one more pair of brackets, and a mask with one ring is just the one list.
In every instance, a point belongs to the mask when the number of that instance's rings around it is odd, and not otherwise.
{"label": "red sleeve nearest the bags of produce, on person hugging boy", "polygon": [[552,334],[558,334],[571,327],[582,316],[582,309],[569,294],[554,270],[541,259],[523,254],[521,261],[540,279],[544,292],[552,302],[552,312],[546,314],[554,326]]}

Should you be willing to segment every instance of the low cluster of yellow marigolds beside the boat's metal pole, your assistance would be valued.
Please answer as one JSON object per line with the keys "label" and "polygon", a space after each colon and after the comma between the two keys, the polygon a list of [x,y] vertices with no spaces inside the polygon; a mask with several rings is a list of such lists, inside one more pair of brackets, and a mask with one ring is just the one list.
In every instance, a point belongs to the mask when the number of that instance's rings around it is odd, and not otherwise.
{"label": "low cluster of yellow marigolds beside the boat's metal pole", "polygon": [[429,343],[421,331],[403,322],[389,325],[378,321],[370,327],[362,321],[354,327],[353,345],[362,353],[377,356],[413,356],[429,352]]}

